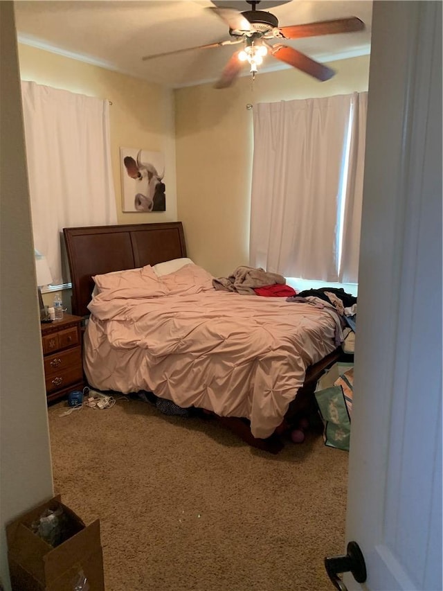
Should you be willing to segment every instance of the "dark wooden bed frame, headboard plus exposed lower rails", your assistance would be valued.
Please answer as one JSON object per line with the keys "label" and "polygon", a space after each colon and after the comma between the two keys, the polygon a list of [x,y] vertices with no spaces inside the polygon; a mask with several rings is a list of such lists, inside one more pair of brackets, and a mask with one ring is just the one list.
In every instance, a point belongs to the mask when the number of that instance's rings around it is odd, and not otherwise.
{"label": "dark wooden bed frame, headboard plus exposed lower rails", "polygon": [[[82,317],[89,315],[87,305],[94,287],[93,275],[156,265],[187,256],[181,222],[64,228],[63,233],[71,272],[72,313]],[[295,424],[301,416],[317,415],[314,398],[317,380],[340,358],[343,358],[343,351],[338,348],[307,369],[305,383],[287,412],[289,425]],[[278,453],[284,446],[277,432],[266,439],[254,437],[246,419],[217,418],[255,448]]]}

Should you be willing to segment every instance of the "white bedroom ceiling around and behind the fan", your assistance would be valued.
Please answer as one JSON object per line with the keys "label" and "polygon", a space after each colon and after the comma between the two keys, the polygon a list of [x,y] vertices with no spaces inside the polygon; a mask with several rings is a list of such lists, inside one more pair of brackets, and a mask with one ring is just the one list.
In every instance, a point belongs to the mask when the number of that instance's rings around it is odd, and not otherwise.
{"label": "white bedroom ceiling around and behind the fan", "polygon": [[[229,39],[228,26],[208,10],[215,5],[251,10],[245,0],[18,0],[15,18],[19,42],[178,88],[217,80],[238,46],[141,58]],[[262,1],[256,8],[272,12],[280,26],[359,17],[365,30],[358,33],[279,42],[319,62],[370,52],[372,1],[275,0]],[[288,67],[268,56],[260,71]]]}

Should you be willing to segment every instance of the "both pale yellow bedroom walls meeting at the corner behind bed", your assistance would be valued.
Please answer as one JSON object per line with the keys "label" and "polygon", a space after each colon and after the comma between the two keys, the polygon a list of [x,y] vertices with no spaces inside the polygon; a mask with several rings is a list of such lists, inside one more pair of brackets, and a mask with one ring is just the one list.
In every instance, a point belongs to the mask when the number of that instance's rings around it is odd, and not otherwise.
{"label": "both pale yellow bedroom walls meeting at the corner behind bed", "polygon": [[[188,255],[216,276],[248,264],[253,111],[246,105],[367,90],[369,71],[366,55],[331,62],[337,73],[327,82],[285,69],[261,73],[253,83],[239,78],[230,89],[207,84],[170,91],[23,44],[19,62],[24,80],[112,101],[118,223],[182,220]],[[165,152],[165,213],[121,211],[120,146]],[[52,299],[45,294],[45,303]]]}

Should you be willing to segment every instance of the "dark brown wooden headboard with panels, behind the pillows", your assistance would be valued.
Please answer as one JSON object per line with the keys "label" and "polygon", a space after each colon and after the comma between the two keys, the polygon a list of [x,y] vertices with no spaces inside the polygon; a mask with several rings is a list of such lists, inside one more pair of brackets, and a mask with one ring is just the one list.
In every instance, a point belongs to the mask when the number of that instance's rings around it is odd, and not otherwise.
{"label": "dark brown wooden headboard with panels, behind the pillows", "polygon": [[64,228],[72,313],[89,315],[93,275],[156,265],[186,256],[181,222]]}

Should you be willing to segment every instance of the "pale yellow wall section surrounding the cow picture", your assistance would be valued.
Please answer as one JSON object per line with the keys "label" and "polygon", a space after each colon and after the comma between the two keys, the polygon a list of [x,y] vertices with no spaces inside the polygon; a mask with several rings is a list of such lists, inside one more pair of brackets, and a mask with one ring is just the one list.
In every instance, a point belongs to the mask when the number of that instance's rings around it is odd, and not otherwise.
{"label": "pale yellow wall section surrounding the cow picture", "polygon": [[[111,100],[111,158],[119,224],[177,220],[172,91],[24,44],[19,44],[19,64],[22,80]],[[165,154],[165,212],[122,212],[120,146]]]}

